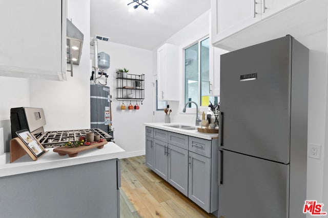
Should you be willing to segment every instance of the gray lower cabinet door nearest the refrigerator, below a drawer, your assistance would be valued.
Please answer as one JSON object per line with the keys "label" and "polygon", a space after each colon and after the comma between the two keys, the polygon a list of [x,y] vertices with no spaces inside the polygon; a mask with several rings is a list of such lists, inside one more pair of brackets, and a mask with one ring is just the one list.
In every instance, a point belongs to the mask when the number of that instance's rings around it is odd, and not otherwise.
{"label": "gray lower cabinet door nearest the refrigerator, below a drawer", "polygon": [[189,152],[188,198],[206,211],[210,211],[211,158]]}

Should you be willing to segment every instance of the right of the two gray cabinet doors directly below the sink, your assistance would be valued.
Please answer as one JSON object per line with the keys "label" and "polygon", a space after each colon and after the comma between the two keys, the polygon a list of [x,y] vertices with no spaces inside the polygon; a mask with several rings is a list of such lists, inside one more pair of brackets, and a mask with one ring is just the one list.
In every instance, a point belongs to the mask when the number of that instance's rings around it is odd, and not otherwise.
{"label": "right of the two gray cabinet doors directly below the sink", "polygon": [[188,150],[169,144],[168,182],[188,197]]}

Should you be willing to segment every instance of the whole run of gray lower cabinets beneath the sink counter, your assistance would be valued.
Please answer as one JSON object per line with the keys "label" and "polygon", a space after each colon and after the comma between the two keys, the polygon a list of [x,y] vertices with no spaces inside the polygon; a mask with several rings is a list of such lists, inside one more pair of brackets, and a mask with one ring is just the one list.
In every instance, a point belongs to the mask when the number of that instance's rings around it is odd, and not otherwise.
{"label": "whole run of gray lower cabinets beneath the sink counter", "polygon": [[146,165],[202,209],[217,213],[217,138],[146,127]]}

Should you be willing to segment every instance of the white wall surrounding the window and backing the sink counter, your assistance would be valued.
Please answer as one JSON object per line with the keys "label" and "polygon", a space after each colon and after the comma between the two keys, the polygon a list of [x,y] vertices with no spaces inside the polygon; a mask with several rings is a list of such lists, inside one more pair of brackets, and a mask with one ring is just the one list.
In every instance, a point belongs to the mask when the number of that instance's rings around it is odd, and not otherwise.
{"label": "white wall surrounding the window and backing the sink counter", "polygon": [[[182,96],[182,89],[183,89],[183,48],[187,47],[188,45],[198,41],[199,39],[208,36],[210,32],[210,10],[203,13],[201,16],[199,16],[197,19],[192,21],[188,26],[181,29],[179,32],[174,34],[172,37],[170,37],[168,40],[166,40],[163,43],[170,43],[177,45],[180,49],[179,52],[179,71],[181,74],[177,75],[177,79],[179,80],[179,84],[181,84],[180,87],[177,88],[177,91],[179,94],[180,101],[170,101],[168,104],[170,104],[170,108],[172,109],[171,113],[171,122],[174,123],[185,123],[194,125],[196,121],[195,114],[188,114],[188,113],[182,113],[183,109],[183,96]],[[159,46],[158,46],[159,47]],[[154,75],[156,75],[156,65],[157,65],[157,49],[153,51],[153,70]],[[156,77],[154,77],[155,81]],[[153,100],[155,102],[155,99]],[[156,108],[154,108],[155,111]],[[205,111],[207,113],[207,109]],[[164,122],[164,112],[163,111],[155,111],[154,116],[154,122]],[[200,116],[199,116],[200,117]]]}

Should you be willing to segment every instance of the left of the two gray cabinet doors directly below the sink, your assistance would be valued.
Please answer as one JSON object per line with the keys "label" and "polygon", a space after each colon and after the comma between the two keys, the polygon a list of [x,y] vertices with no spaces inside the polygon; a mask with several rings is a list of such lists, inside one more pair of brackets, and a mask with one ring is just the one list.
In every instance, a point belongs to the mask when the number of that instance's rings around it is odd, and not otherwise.
{"label": "left of the two gray cabinet doors directly below the sink", "polygon": [[168,181],[168,143],[154,139],[154,169],[161,178]]}

